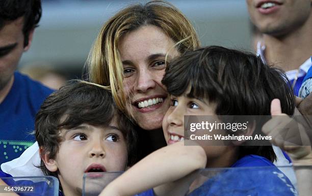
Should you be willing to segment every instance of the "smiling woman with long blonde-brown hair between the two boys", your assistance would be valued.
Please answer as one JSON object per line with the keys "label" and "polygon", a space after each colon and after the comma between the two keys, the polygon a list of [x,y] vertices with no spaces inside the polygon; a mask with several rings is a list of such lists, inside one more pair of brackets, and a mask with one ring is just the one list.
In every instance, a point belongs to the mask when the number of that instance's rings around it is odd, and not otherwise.
{"label": "smiling woman with long blonde-brown hair between the two boys", "polygon": [[191,22],[163,1],[129,6],[102,26],[87,61],[90,81],[110,87],[117,106],[144,129],[138,131],[143,156],[166,145],[166,61],[198,46]]}

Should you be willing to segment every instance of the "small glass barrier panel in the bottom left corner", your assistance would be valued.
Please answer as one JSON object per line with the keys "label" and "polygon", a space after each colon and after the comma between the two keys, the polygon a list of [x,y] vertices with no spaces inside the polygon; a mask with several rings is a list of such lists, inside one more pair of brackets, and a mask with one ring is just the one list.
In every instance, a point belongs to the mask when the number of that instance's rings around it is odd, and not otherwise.
{"label": "small glass barrier panel in the bottom left corner", "polygon": [[59,180],[53,176],[3,177],[1,180],[7,185],[0,182],[0,195],[59,195]]}

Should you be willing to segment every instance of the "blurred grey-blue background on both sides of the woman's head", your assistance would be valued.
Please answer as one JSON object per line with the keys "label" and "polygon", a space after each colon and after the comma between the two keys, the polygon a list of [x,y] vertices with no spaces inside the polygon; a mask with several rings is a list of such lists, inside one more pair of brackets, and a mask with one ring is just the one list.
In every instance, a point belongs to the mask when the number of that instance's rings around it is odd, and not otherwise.
{"label": "blurred grey-blue background on both sides of the woman's head", "polygon": [[[147,1],[42,0],[42,18],[19,70],[58,88],[81,79],[91,45],[103,23],[128,4]],[[203,46],[252,51],[252,27],[245,0],[169,1],[193,23]],[[39,69],[40,68],[40,69]]]}

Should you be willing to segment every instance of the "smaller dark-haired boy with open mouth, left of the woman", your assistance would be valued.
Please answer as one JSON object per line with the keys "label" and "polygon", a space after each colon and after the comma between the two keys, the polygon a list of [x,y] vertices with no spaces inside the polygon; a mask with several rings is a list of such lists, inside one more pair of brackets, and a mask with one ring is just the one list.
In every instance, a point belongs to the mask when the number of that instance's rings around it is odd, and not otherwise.
{"label": "smaller dark-haired boy with open mouth, left of the woman", "polygon": [[59,179],[64,195],[81,195],[85,173],[124,171],[132,164],[132,127],[109,90],[67,84],[47,97],[36,116],[41,169]]}

